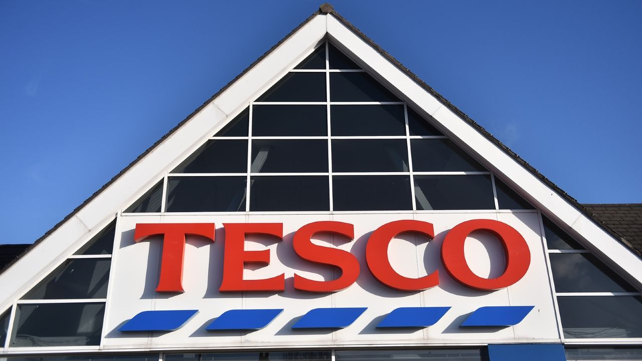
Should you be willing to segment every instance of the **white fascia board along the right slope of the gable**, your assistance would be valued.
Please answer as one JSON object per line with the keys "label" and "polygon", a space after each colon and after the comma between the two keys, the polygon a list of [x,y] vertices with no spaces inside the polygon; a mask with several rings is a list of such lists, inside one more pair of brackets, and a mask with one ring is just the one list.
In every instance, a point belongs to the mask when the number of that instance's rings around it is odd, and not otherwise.
{"label": "white fascia board along the right slope of the gable", "polygon": [[518,191],[529,195],[529,198],[535,200],[537,206],[554,215],[562,225],[584,238],[589,245],[593,246],[594,251],[601,253],[610,261],[612,267],[627,273],[638,287],[642,285],[640,259],[619,240],[613,238],[602,227],[598,227],[577,207],[542,182],[530,170],[517,163],[467,121],[442,105],[435,96],[332,15],[327,16],[327,32],[338,45],[347,49],[375,75],[403,94],[403,98],[433,116],[442,128],[448,130],[449,135],[462,145],[471,148],[488,164],[492,164],[492,167],[506,179],[512,180]]}

